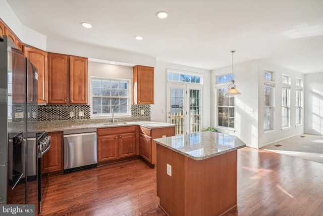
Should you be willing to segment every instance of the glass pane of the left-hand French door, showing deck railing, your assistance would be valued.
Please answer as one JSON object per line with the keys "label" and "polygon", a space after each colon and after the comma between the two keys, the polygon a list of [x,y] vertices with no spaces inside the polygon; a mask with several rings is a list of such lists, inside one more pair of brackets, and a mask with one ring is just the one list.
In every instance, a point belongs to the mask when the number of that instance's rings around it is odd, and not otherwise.
{"label": "glass pane of the left-hand French door, showing deck railing", "polygon": [[184,89],[171,88],[171,123],[176,135],[184,133]]}

